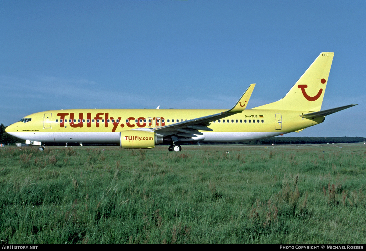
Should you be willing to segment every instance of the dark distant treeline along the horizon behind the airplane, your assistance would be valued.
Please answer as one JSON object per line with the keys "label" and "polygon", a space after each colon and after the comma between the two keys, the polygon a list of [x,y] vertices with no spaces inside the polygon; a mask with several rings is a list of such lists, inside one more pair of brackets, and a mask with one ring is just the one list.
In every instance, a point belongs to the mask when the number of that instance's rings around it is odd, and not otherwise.
{"label": "dark distant treeline along the horizon behind the airplane", "polygon": [[[5,132],[6,126],[1,124],[0,143],[11,144],[24,143],[22,139],[18,139]],[[257,145],[257,144],[332,144],[332,143],[358,143],[363,142],[366,138],[362,137],[275,137],[267,139],[258,139],[254,141],[236,142],[235,144]],[[206,144],[225,144],[225,143],[206,143]],[[232,143],[228,143],[232,144]]]}

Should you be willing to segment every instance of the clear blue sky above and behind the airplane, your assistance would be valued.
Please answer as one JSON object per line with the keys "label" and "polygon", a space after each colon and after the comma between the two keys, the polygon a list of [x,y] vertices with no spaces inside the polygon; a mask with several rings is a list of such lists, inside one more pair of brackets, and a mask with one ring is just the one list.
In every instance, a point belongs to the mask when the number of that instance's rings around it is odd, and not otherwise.
{"label": "clear blue sky above and behind the airplane", "polygon": [[69,108],[277,101],[335,52],[322,109],[287,136],[366,136],[366,1],[0,0],[0,123]]}

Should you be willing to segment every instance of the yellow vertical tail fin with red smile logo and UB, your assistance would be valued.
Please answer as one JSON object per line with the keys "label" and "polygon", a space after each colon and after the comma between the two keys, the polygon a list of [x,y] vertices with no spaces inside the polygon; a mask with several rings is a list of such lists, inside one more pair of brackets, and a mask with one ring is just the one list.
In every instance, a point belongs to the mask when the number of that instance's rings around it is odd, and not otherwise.
{"label": "yellow vertical tail fin with red smile logo and UB", "polygon": [[333,52],[320,53],[285,97],[253,109],[320,111],[333,56]]}

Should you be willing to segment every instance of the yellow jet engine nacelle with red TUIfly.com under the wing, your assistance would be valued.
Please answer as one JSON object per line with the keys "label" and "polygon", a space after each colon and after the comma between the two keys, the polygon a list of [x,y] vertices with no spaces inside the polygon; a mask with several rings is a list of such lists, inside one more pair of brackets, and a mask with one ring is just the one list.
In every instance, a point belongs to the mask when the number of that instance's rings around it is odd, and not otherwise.
{"label": "yellow jet engine nacelle with red TUIfly.com under the wing", "polygon": [[130,149],[147,149],[163,143],[163,138],[155,132],[141,130],[127,130],[120,134],[119,145]]}

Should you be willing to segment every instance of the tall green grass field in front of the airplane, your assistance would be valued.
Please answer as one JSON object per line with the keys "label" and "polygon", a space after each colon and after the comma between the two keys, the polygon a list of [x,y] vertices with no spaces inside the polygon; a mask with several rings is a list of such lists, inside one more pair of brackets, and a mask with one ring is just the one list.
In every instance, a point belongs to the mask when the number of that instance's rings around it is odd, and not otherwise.
{"label": "tall green grass field in front of the airplane", "polygon": [[365,184],[359,144],[1,147],[0,242],[365,243]]}

